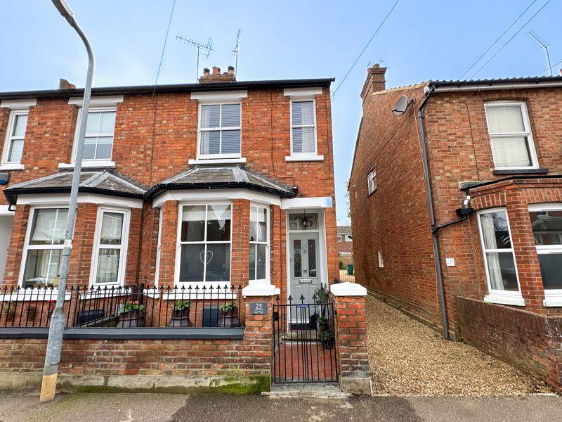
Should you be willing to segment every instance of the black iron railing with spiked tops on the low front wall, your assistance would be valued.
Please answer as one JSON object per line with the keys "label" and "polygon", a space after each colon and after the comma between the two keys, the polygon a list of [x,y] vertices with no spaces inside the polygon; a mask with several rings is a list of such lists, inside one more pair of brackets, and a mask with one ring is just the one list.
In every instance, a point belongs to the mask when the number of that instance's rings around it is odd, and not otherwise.
{"label": "black iron railing with spiked tops on the low front wall", "polygon": [[[56,288],[0,290],[0,327],[48,327]],[[242,286],[67,289],[64,311],[72,328],[230,328],[244,325]]]}

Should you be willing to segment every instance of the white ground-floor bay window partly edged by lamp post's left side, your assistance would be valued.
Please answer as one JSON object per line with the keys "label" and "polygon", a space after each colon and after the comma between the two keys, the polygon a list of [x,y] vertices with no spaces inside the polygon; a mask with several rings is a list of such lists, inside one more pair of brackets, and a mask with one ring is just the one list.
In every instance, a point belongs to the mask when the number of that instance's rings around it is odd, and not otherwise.
{"label": "white ground-floor bay window partly edged by lamp post's left side", "polygon": [[58,286],[63,256],[66,208],[36,208],[25,243],[22,287]]}

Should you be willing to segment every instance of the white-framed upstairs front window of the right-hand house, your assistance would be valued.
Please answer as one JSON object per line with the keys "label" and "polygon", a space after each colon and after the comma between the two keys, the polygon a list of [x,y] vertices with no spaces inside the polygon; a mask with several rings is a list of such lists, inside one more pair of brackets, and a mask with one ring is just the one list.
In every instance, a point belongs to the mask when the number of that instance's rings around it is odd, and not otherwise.
{"label": "white-framed upstairs front window of the right-hand house", "polygon": [[535,143],[525,103],[487,103],[485,111],[496,170],[537,168]]}

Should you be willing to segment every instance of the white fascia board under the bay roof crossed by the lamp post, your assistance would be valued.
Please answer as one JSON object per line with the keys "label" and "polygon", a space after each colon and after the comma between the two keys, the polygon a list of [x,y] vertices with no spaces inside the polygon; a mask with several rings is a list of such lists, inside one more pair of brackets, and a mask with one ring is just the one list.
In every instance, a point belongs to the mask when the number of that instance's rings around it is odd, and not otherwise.
{"label": "white fascia board under the bay roof crossed by the lamp post", "polygon": [[[67,193],[18,195],[17,205],[68,205]],[[110,207],[142,208],[143,200],[120,196],[100,195],[98,193],[80,193],[78,203],[98,204]]]}

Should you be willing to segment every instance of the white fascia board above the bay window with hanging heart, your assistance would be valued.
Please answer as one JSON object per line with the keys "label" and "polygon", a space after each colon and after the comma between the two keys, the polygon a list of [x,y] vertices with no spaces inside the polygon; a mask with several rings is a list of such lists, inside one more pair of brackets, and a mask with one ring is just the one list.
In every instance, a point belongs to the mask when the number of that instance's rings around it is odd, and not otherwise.
{"label": "white fascia board above the bay window with hanging heart", "polygon": [[191,189],[167,191],[152,201],[152,207],[159,208],[169,200],[178,202],[197,202],[197,201],[230,201],[233,199],[248,199],[253,203],[263,205],[281,205],[278,196],[268,193],[249,191],[248,189]]}

